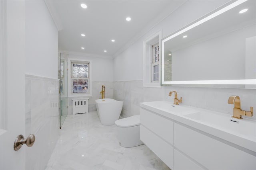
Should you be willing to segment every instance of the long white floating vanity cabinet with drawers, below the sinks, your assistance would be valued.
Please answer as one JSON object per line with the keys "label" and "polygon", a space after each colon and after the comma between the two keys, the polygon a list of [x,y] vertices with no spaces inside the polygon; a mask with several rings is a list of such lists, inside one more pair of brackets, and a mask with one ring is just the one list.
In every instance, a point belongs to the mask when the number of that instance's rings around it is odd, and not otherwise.
{"label": "long white floating vanity cabinet with drawers, below the sinks", "polygon": [[165,110],[141,104],[140,139],[172,170],[256,170],[256,152],[234,144],[239,138],[226,141]]}

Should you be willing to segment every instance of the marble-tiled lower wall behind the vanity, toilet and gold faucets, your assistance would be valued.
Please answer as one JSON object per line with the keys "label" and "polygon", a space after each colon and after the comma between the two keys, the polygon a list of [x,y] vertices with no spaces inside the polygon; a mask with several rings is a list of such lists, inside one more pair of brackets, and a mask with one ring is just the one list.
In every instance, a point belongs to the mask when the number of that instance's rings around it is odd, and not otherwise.
{"label": "marble-tiled lower wall behind the vanity, toilet and gold faucets", "polygon": [[[241,108],[250,110],[254,107],[256,113],[256,89],[239,88],[196,88],[196,87],[172,87],[161,88],[143,87],[142,81],[118,81],[114,82],[113,96],[115,100],[124,101],[121,116],[129,117],[139,114],[140,102],[166,100],[173,102],[173,96],[169,92],[175,90],[178,98],[182,97],[182,104],[219,111],[232,115],[234,105],[228,104],[230,95],[237,95],[241,99]],[[249,119],[256,119],[254,114]]]}

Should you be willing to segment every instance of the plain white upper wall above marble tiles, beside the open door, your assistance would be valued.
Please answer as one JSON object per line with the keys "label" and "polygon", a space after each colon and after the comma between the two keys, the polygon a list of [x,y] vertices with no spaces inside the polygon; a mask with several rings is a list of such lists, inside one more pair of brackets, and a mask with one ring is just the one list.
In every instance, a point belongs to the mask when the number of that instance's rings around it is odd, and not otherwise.
{"label": "plain white upper wall above marble tiles, beside the open door", "polygon": [[26,74],[58,78],[58,30],[48,8],[43,0],[26,1],[25,15]]}

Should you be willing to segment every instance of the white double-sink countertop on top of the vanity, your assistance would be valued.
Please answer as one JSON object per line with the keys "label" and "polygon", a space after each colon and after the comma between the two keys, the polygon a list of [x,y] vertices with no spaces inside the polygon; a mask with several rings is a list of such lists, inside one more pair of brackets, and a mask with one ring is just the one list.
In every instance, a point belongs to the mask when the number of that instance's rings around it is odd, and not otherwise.
{"label": "white double-sink countertop on top of the vanity", "polygon": [[[256,121],[172,102],[143,102],[140,107],[251,150],[256,155]],[[236,122],[237,121],[237,122]]]}

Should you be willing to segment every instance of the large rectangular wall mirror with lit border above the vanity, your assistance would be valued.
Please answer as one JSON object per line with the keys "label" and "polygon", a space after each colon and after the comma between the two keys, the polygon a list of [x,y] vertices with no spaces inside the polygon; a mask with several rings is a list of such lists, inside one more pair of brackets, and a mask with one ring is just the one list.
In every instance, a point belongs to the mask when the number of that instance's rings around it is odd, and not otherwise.
{"label": "large rectangular wall mirror with lit border above the vanity", "polygon": [[162,85],[256,88],[256,1],[232,1],[162,39]]}

